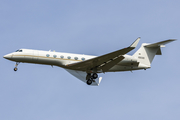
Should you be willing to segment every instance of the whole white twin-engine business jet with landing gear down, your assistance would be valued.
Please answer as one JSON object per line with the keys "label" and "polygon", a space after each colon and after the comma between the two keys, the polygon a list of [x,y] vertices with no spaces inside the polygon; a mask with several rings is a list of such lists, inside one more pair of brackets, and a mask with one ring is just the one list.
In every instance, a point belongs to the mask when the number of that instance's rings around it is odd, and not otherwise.
{"label": "whole white twin-engine business jet with landing gear down", "polygon": [[62,53],[51,50],[19,49],[3,57],[16,62],[14,71],[17,71],[19,63],[58,66],[87,83],[87,85],[99,86],[102,80],[102,77],[98,77],[99,73],[151,68],[154,56],[162,55],[161,47],[165,47],[165,44],[176,39],[168,39],[153,44],[143,43],[132,56],[127,55],[126,53],[136,48],[139,40],[140,37],[129,47],[101,56]]}

